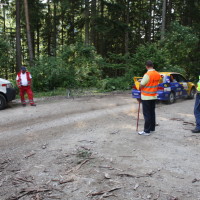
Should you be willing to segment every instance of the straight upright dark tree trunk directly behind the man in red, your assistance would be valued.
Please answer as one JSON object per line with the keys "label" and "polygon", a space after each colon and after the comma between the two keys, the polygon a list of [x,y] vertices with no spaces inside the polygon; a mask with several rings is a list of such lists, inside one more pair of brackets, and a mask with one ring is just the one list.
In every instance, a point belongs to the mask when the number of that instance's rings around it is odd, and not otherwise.
{"label": "straight upright dark tree trunk directly behind the man in red", "polygon": [[21,37],[20,37],[20,0],[16,0],[16,72],[20,71],[21,57]]}

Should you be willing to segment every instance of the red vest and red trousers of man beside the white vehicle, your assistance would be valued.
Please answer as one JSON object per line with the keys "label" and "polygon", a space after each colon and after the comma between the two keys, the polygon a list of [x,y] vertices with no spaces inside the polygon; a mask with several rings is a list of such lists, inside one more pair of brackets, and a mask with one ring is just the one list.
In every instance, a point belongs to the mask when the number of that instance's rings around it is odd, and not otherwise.
{"label": "red vest and red trousers of man beside the white vehicle", "polygon": [[19,72],[17,74],[17,76],[18,76],[17,85],[19,87],[19,94],[20,94],[20,97],[21,97],[21,102],[22,102],[23,105],[26,105],[26,100],[24,98],[24,95],[25,95],[25,93],[27,93],[28,99],[29,99],[29,103],[31,105],[34,105],[33,92],[31,90],[30,72],[25,72],[25,73],[26,73],[26,78],[27,78],[27,81],[28,81],[28,85],[27,86],[23,86],[21,84],[21,72]]}

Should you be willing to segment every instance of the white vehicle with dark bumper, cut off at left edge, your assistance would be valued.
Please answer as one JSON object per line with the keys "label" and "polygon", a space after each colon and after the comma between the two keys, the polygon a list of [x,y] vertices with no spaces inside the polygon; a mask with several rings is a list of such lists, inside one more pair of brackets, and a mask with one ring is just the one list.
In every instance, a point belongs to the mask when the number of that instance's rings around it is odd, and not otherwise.
{"label": "white vehicle with dark bumper, cut off at left edge", "polygon": [[16,90],[10,81],[0,78],[0,110],[3,110],[9,101],[15,99]]}

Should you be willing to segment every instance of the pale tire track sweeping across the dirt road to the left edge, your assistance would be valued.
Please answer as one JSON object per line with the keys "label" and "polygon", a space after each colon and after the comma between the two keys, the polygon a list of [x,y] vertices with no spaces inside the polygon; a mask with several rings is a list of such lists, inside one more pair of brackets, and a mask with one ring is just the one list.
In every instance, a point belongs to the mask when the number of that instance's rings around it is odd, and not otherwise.
{"label": "pale tire track sweeping across the dirt road to the left edge", "polygon": [[98,118],[103,118],[107,115],[117,115],[120,112],[129,112],[131,109],[134,110],[134,105],[132,106],[128,104],[100,110],[91,110],[83,113],[56,115],[43,121],[36,119],[31,123],[22,123],[18,127],[12,126],[10,128],[8,127],[4,131],[1,131],[0,143],[1,146],[3,146],[4,140],[7,142],[9,140],[15,141],[16,138],[19,140],[19,138],[23,139],[23,137],[27,137],[28,135],[31,135],[31,137],[37,137],[37,135],[40,135],[42,132],[46,132],[46,134],[48,134],[48,130],[51,130],[51,132],[55,130],[56,132],[60,127],[70,127],[76,123],[97,120]]}

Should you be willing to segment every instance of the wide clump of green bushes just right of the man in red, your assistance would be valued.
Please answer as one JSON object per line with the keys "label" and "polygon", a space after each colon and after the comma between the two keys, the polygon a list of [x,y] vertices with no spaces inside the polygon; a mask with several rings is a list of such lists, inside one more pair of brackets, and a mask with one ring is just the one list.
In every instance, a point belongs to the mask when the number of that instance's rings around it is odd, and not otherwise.
{"label": "wide clump of green bushes just right of the man in red", "polygon": [[43,57],[31,68],[34,89],[95,87],[101,78],[100,60],[92,47],[66,46],[59,56]]}

